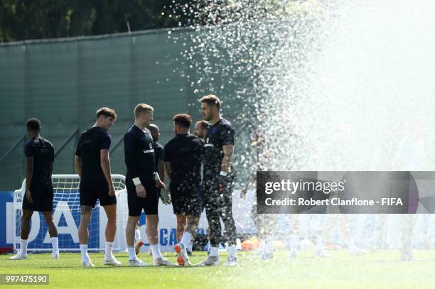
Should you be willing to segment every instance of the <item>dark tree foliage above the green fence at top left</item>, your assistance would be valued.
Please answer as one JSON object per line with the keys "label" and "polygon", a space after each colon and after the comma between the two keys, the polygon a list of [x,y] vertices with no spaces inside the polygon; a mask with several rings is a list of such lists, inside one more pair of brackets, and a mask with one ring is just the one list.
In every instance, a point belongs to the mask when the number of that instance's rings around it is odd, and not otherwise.
{"label": "dark tree foliage above the green fence at top left", "polygon": [[0,0],[0,42],[188,25],[192,0]]}

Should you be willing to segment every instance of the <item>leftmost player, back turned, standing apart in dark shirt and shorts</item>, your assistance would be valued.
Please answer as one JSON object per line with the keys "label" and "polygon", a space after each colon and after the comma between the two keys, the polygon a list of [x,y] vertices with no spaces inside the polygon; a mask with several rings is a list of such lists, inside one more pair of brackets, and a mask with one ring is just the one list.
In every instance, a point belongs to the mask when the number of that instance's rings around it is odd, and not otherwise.
{"label": "leftmost player, back turned, standing apart in dark shirt and shorts", "polygon": [[53,223],[53,173],[54,148],[50,141],[39,135],[41,122],[38,119],[27,121],[27,131],[31,140],[26,143],[26,192],[23,197],[23,215],[21,216],[21,247],[11,260],[27,259],[27,239],[34,211],[43,212],[48,225],[53,253],[51,258],[59,258],[58,230]]}

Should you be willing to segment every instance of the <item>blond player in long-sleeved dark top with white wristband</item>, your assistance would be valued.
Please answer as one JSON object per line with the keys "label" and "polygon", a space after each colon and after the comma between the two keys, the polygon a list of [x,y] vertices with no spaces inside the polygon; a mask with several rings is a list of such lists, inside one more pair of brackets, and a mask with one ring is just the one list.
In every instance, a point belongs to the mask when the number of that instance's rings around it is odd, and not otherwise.
{"label": "blond player in long-sleeved dark top with white wristband", "polygon": [[138,104],[134,109],[134,124],[124,135],[124,156],[127,165],[125,182],[129,205],[125,234],[130,266],[147,266],[136,257],[134,250],[134,230],[142,209],[146,214],[146,235],[153,254],[153,265],[176,265],[163,258],[159,248],[158,188],[165,188],[165,185],[155,170],[154,142],[150,131],[146,129],[153,120],[153,111],[148,104]]}

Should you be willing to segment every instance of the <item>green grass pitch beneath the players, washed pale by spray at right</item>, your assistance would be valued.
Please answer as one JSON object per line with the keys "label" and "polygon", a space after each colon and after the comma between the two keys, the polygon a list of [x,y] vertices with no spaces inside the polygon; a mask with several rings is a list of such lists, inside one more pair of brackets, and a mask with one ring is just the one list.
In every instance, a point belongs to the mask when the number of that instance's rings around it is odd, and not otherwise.
{"label": "green grass pitch beneath the players, washed pale by spray at right", "polygon": [[[287,251],[275,251],[274,259],[264,261],[242,252],[238,266],[231,268],[223,266],[226,253],[220,255],[220,266],[207,268],[129,268],[127,253],[114,254],[122,266],[103,266],[103,254],[90,253],[95,263],[90,269],[81,267],[80,253],[61,253],[60,260],[51,260],[49,253],[19,261],[1,255],[0,274],[49,274],[50,284],[44,288],[435,288],[435,251],[417,251],[418,260],[411,262],[399,261],[398,251],[328,253],[328,258],[314,258],[311,251],[301,251],[298,258],[289,259]],[[176,261],[174,253],[165,255]],[[193,255],[191,260],[198,263],[206,253]],[[146,253],[139,258],[151,263]]]}

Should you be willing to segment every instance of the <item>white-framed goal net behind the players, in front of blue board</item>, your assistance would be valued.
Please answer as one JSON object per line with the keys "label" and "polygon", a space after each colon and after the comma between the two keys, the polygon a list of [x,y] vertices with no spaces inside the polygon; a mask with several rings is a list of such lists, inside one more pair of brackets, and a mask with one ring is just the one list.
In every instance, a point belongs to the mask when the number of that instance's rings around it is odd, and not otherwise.
{"label": "white-framed goal net behind the players, in front of blue board", "polygon": [[[79,251],[78,227],[80,224],[80,178],[78,175],[53,175],[53,221],[58,228],[59,249],[61,251]],[[114,240],[114,250],[119,250],[121,238],[124,238],[127,224],[127,197],[120,194],[126,192],[124,175],[112,175],[113,185],[117,195],[117,236]],[[20,247],[20,225],[23,213],[23,197],[25,197],[26,180],[21,189],[14,193],[14,249]],[[104,250],[104,229],[107,224],[104,208],[97,201],[92,210],[89,227],[88,249],[94,251]],[[28,236],[29,251],[51,251],[50,234],[42,212],[33,212],[31,231]]]}

